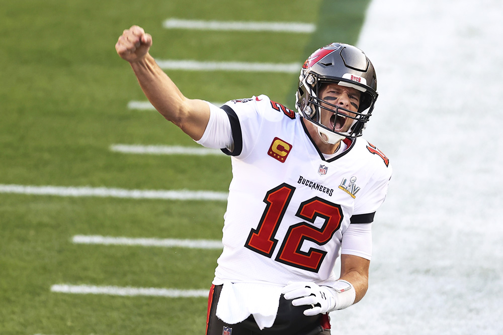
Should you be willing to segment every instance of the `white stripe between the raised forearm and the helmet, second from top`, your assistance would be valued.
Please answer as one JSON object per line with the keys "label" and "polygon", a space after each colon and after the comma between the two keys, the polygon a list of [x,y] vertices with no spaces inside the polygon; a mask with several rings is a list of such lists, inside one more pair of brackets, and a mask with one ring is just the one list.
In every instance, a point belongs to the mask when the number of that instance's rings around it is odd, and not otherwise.
{"label": "white stripe between the raised forearm and the helmet, second from top", "polygon": [[247,63],[247,62],[202,62],[195,60],[156,59],[163,70],[188,71],[242,71],[299,73],[299,63]]}

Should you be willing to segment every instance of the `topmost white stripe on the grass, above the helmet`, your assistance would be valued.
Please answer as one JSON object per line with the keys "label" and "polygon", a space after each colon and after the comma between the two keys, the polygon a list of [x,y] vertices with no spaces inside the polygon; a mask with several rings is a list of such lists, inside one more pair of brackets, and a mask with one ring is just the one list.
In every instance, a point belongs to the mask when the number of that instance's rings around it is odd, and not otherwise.
{"label": "topmost white stripe on the grass, above the helmet", "polygon": [[316,26],[311,23],[301,22],[243,22],[243,21],[203,21],[167,19],[162,23],[166,29],[196,29],[196,30],[223,30],[223,31],[249,31],[249,32],[279,32],[311,34]]}

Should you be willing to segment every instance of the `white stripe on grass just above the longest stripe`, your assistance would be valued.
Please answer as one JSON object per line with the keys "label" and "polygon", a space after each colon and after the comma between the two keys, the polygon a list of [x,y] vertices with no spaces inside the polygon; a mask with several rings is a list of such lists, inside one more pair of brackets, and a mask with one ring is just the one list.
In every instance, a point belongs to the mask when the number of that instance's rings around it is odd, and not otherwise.
{"label": "white stripe on grass just above the longest stripe", "polygon": [[196,156],[225,156],[222,151],[210,148],[193,148],[181,146],[165,146],[165,145],[128,145],[128,144],[113,144],[110,146],[113,152],[123,154],[140,154],[140,155],[196,155]]}

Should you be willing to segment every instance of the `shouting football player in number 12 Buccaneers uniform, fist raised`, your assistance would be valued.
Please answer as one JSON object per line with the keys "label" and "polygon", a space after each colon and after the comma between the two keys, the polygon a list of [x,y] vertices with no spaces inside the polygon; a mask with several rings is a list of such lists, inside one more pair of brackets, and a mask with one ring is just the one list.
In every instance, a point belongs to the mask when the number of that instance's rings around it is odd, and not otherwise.
{"label": "shouting football player in number 12 Buccaneers uniform, fist raised", "polygon": [[367,291],[372,222],[391,177],[388,158],[361,138],[377,99],[372,63],[332,43],[300,69],[298,113],[266,95],[218,107],[186,98],[151,45],[133,26],[116,50],[166,120],[232,158],[206,334],[329,334],[328,312]]}

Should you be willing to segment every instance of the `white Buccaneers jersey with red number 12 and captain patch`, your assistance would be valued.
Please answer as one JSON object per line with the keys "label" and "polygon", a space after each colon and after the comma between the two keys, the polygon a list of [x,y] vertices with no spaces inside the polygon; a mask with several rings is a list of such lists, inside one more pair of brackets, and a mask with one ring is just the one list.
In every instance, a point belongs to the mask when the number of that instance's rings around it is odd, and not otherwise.
{"label": "white Buccaneers jersey with red number 12 and captain patch", "polygon": [[[363,138],[325,159],[297,113],[260,95],[221,107],[232,129],[233,178],[224,215],[224,281],[329,285],[351,223],[373,221],[391,166]],[[204,144],[204,143],[203,143]]]}

